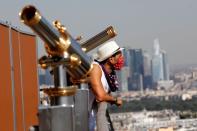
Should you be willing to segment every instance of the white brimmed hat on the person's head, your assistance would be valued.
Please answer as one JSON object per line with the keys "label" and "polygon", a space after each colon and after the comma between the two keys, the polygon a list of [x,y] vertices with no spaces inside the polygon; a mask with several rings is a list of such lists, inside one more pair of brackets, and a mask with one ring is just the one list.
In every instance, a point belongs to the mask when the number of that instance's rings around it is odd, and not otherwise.
{"label": "white brimmed hat on the person's head", "polygon": [[98,49],[96,60],[99,62],[104,61],[122,49],[115,41],[106,42]]}

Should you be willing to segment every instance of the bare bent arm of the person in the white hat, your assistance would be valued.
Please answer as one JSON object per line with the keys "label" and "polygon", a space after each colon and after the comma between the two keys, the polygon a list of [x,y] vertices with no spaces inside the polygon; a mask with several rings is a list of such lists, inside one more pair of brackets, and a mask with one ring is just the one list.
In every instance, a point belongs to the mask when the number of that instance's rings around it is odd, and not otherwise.
{"label": "bare bent arm of the person in the white hat", "polygon": [[92,91],[96,97],[96,100],[101,102],[101,101],[107,101],[110,103],[115,103],[117,105],[121,105],[122,101],[120,99],[114,98],[113,96],[109,95],[108,93],[105,92],[103,85],[101,83],[101,76],[102,76],[102,71],[99,67],[99,65],[94,64],[93,69],[90,72],[90,84],[92,87]]}

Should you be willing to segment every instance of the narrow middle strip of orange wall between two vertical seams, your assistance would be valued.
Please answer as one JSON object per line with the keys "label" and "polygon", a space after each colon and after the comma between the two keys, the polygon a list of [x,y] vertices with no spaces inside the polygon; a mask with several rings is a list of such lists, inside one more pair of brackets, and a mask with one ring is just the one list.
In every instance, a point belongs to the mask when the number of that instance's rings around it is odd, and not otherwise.
{"label": "narrow middle strip of orange wall between two vertical seams", "polygon": [[22,79],[21,79],[21,61],[20,61],[20,45],[19,32],[11,29],[11,41],[13,50],[13,66],[14,66],[14,89],[16,103],[16,129],[24,131],[24,111],[23,111],[23,96],[22,96]]}

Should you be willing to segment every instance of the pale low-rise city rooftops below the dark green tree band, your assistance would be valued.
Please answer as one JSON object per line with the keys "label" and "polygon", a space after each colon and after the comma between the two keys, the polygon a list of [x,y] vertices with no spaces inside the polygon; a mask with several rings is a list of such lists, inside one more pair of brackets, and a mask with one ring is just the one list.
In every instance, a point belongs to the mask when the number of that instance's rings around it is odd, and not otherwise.
{"label": "pale low-rise city rooftops below the dark green tree band", "polygon": [[196,131],[197,119],[180,119],[172,110],[113,113],[111,120],[118,131]]}

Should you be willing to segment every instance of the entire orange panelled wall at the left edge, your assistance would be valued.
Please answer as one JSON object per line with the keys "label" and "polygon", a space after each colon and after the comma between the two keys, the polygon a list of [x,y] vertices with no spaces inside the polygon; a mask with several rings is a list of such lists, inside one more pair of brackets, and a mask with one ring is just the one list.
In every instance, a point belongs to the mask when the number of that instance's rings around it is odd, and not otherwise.
{"label": "entire orange panelled wall at the left edge", "polygon": [[38,125],[36,53],[35,35],[0,22],[0,131]]}

